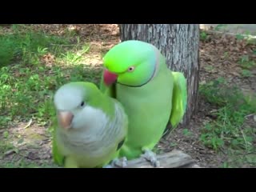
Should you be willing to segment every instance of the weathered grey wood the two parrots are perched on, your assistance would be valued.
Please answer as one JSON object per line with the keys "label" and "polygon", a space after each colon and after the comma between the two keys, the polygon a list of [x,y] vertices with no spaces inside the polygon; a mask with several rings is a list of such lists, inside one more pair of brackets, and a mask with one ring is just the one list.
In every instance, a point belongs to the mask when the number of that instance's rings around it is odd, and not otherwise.
{"label": "weathered grey wood the two parrots are perched on", "polygon": [[[194,159],[188,154],[182,153],[180,150],[173,150],[169,153],[158,154],[160,167],[158,168],[201,168],[196,164]],[[120,168],[114,166],[114,168]],[[125,168],[154,168],[145,158],[136,158],[127,162]]]}

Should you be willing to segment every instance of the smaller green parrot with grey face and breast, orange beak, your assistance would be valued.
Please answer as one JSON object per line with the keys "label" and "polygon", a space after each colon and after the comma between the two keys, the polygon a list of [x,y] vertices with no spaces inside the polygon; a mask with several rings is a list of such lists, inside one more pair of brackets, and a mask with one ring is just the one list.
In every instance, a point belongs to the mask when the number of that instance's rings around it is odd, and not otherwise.
{"label": "smaller green parrot with grey face and breast, orange beak", "polygon": [[[96,168],[115,162],[126,139],[122,105],[91,82],[70,82],[54,94],[54,162],[66,168]],[[125,163],[125,161],[124,161]]]}

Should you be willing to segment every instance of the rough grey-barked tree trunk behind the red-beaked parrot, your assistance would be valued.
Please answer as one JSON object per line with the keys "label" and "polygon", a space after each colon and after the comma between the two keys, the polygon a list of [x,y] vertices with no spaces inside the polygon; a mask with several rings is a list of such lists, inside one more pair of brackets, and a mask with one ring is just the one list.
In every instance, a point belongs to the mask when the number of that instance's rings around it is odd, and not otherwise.
{"label": "rough grey-barked tree trunk behind the red-beaked parrot", "polygon": [[121,40],[150,42],[166,57],[170,70],[187,78],[188,102],[182,126],[190,122],[198,106],[199,25],[198,24],[121,24]]}

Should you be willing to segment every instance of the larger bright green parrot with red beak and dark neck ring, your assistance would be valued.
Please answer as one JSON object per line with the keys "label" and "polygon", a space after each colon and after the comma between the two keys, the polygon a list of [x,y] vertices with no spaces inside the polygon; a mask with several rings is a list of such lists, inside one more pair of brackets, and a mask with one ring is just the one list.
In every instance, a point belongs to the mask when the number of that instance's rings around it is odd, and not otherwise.
{"label": "larger bright green parrot with red beak and dark neck ring", "polygon": [[187,103],[185,76],[169,70],[155,46],[137,40],[110,49],[103,66],[100,90],[121,102],[129,119],[119,157],[142,156],[160,166],[152,149],[167,127],[182,121]]}

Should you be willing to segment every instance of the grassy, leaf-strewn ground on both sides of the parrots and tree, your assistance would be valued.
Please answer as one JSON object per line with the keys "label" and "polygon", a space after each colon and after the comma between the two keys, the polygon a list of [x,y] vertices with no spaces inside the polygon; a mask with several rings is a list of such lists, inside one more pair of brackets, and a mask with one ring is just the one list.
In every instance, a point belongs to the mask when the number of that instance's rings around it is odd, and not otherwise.
{"label": "grassy, leaf-strewn ground on both sides of the parrots and tree", "polygon": [[[204,167],[255,167],[256,46],[242,35],[200,37],[198,113],[155,150],[182,150]],[[70,80],[98,84],[102,56],[118,42],[117,25],[0,28],[0,167],[56,167],[53,94]]]}

